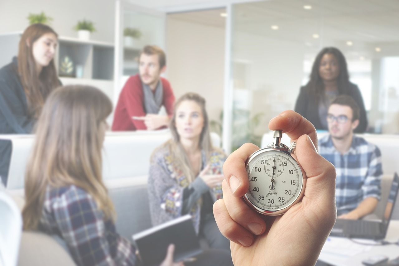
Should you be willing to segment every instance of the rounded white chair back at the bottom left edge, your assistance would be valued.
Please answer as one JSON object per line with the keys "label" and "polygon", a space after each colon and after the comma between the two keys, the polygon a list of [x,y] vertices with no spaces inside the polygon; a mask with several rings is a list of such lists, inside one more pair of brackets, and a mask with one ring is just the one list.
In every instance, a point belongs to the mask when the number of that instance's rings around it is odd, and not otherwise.
{"label": "rounded white chair back at the bottom left edge", "polygon": [[15,202],[0,191],[0,265],[15,266],[20,247],[22,218]]}

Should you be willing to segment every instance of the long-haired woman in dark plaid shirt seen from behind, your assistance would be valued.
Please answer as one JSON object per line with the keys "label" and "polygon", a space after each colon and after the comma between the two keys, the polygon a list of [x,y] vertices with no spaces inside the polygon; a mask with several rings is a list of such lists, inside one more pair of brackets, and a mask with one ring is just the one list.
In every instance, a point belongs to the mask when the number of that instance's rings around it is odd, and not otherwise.
{"label": "long-haired woman in dark plaid shirt seen from behind", "polygon": [[[135,248],[115,230],[102,180],[101,149],[112,111],[99,89],[65,86],[47,99],[25,175],[24,230],[65,241],[77,265],[136,265]],[[162,266],[173,264],[174,247]],[[51,250],[49,250],[51,252]]]}

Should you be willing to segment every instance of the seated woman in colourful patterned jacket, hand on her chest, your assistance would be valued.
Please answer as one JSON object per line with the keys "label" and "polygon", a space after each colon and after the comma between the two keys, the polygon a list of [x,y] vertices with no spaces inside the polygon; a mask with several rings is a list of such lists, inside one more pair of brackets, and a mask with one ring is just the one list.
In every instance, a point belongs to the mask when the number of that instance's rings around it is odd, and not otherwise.
{"label": "seated woman in colourful patterned jacket, hand on her chest", "polygon": [[213,202],[222,197],[226,155],[212,147],[205,99],[186,93],[170,121],[172,139],[151,157],[148,196],[153,225],[191,214],[194,228],[210,248],[230,250],[217,228]]}

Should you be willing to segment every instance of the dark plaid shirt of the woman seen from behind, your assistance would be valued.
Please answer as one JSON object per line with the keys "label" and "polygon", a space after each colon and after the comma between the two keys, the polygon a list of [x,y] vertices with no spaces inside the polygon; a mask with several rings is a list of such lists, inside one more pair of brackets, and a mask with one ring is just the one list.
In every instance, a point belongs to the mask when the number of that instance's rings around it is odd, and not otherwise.
{"label": "dark plaid shirt of the woman seen from behind", "polygon": [[94,199],[70,185],[47,187],[40,230],[65,240],[77,265],[135,265],[135,248],[104,220]]}

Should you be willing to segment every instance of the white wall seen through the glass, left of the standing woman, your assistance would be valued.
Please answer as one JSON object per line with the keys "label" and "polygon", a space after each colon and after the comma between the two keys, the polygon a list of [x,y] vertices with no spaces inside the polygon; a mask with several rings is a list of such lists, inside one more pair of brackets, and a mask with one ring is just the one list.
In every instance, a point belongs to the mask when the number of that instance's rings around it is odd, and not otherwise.
{"label": "white wall seen through the glass, left of the standing woman", "polygon": [[[263,113],[255,133],[269,131],[270,119],[294,109],[302,82],[304,48],[296,42],[233,32],[234,106]],[[241,65],[235,71],[237,63]],[[246,71],[243,75],[241,72]],[[245,82],[243,82],[245,78]],[[234,132],[234,131],[233,131]]]}

